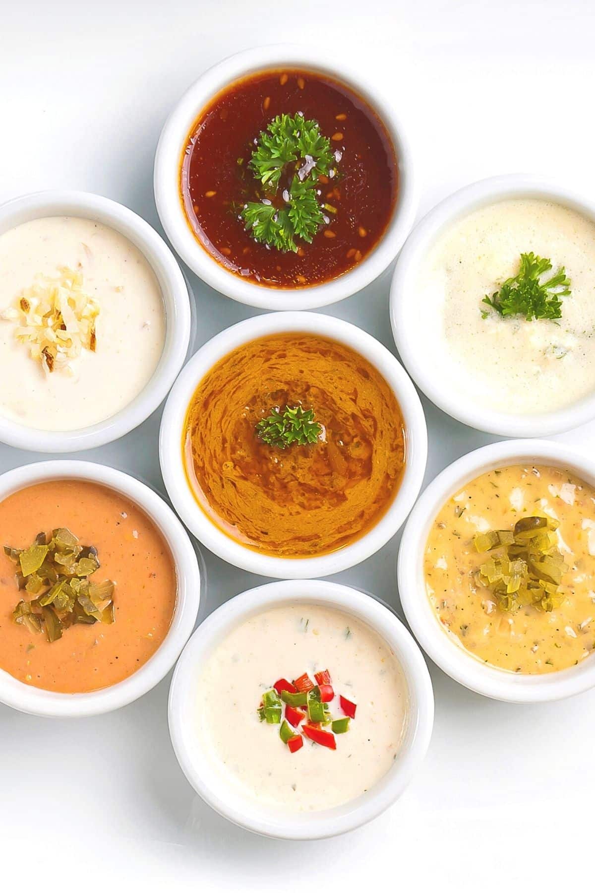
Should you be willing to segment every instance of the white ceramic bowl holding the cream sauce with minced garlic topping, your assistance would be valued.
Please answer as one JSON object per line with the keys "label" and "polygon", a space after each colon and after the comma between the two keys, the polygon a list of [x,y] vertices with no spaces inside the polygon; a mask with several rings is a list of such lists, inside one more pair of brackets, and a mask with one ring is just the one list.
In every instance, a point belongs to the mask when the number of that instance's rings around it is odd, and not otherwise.
{"label": "white ceramic bowl holding the cream sauce with minced garlic topping", "polygon": [[88,192],[49,191],[13,198],[0,207],[0,234],[40,217],[68,215],[99,221],[122,233],[153,268],[165,306],[166,333],[153,377],[132,403],[111,418],[72,431],[28,428],[0,415],[0,440],[11,447],[44,453],[70,453],[101,447],[136,428],[167,396],[186,357],[191,333],[190,300],[178,262],[161,236],[138,214],[110,198]]}

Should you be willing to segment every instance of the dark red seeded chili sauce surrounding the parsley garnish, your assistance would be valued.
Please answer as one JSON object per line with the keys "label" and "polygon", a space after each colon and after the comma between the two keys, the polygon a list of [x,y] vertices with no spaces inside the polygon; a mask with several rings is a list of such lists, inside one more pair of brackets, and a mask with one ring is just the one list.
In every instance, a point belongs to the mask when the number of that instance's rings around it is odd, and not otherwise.
{"label": "dark red seeded chili sauce surrounding the parsley garnish", "polygon": [[[259,243],[244,229],[245,202],[263,190],[248,168],[260,131],[277,114],[318,121],[337,159],[334,179],[318,179],[326,213],[298,252]],[[196,238],[227,270],[277,288],[306,288],[360,263],[384,234],[397,196],[393,144],[372,109],[351,89],[311,71],[264,71],[236,81],[205,108],[188,135],[181,196]]]}

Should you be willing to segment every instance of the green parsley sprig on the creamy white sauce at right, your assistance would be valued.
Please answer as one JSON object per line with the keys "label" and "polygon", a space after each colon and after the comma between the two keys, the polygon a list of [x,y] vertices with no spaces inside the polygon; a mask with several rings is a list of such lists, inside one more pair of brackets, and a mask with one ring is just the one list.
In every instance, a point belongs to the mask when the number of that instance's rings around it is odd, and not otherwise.
{"label": "green parsley sprig on the creamy white sauce at right", "polygon": [[[562,316],[563,296],[570,294],[570,280],[564,267],[542,282],[543,273],[551,270],[551,261],[530,251],[521,255],[520,269],[500,286],[492,297],[485,296],[483,304],[489,304],[500,316],[525,316],[525,320],[559,320]],[[483,316],[482,312],[482,316]],[[485,317],[483,317],[485,318]]]}

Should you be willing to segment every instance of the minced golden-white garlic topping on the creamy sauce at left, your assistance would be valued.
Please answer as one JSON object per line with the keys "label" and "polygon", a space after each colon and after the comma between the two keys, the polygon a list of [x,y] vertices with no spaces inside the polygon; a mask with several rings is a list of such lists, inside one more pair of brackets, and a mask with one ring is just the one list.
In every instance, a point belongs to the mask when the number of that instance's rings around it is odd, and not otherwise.
{"label": "minced golden-white garlic topping on the creamy sauce at left", "polygon": [[61,267],[57,276],[38,273],[0,318],[19,323],[14,337],[29,346],[31,359],[46,373],[71,372],[70,361],[83,348],[95,351],[98,313],[99,305],[83,289],[82,272]]}

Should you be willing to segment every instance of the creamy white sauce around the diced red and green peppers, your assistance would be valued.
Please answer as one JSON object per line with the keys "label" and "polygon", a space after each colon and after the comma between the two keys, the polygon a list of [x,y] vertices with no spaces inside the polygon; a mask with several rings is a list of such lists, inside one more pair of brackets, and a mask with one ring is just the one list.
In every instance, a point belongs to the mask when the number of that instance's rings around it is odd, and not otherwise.
{"label": "creamy white sauce around the diced red and green peppers", "polygon": [[[333,718],[344,715],[343,695],[357,704],[355,719],[335,736],[336,750],[304,738],[292,754],[279,726],[260,722],[260,697],[281,677],[308,672],[314,680],[326,669]],[[244,621],[214,649],[197,681],[197,734],[215,771],[245,794],[284,809],[321,810],[359,797],[388,772],[407,705],[401,666],[374,630],[331,608],[280,606]]]}

